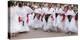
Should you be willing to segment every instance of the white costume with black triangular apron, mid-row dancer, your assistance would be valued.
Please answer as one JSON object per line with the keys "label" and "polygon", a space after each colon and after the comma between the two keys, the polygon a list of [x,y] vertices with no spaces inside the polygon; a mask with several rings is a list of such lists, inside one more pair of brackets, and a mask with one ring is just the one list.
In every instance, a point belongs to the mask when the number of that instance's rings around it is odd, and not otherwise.
{"label": "white costume with black triangular apron, mid-row dancer", "polygon": [[51,14],[53,13],[53,8],[48,9],[47,7],[44,7],[42,11],[45,13],[45,17],[44,17],[45,20],[43,19],[43,23],[44,23],[43,30],[52,31],[51,29],[53,26],[53,22],[51,21],[52,20]]}

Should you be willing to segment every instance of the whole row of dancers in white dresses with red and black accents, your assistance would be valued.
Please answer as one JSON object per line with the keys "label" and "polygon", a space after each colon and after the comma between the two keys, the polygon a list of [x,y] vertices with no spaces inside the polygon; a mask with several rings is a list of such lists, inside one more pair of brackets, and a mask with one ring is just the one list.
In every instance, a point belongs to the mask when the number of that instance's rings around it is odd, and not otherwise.
{"label": "whole row of dancers in white dresses with red and black accents", "polygon": [[31,28],[41,29],[45,32],[77,33],[78,13],[72,5],[44,4],[43,7],[28,3],[17,3],[10,7],[10,33],[30,32]]}

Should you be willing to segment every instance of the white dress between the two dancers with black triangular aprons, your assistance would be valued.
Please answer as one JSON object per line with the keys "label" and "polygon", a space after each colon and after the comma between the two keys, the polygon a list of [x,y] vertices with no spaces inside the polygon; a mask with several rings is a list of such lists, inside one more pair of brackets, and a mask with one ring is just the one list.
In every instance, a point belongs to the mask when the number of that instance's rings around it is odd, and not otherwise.
{"label": "white dress between the two dancers with black triangular aprons", "polygon": [[[64,13],[64,11],[61,8],[58,10],[58,12],[60,14]],[[61,15],[58,15],[56,18],[56,27],[58,27],[61,31],[63,31],[63,28],[64,28],[63,26],[64,22],[62,22],[62,19],[63,19],[63,16]]]}

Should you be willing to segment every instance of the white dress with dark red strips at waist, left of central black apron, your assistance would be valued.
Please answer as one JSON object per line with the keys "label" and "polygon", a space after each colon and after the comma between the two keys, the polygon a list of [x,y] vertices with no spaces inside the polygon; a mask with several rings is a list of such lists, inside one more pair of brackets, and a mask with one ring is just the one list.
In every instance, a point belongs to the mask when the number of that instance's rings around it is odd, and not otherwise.
{"label": "white dress with dark red strips at waist, left of central black apron", "polygon": [[[35,9],[34,13],[40,14],[41,13],[41,8]],[[41,19],[41,17],[40,17],[40,19]],[[32,26],[33,26],[33,28],[42,28],[42,22],[41,22],[41,20],[38,20],[37,17],[35,17],[34,20],[33,20]]]}

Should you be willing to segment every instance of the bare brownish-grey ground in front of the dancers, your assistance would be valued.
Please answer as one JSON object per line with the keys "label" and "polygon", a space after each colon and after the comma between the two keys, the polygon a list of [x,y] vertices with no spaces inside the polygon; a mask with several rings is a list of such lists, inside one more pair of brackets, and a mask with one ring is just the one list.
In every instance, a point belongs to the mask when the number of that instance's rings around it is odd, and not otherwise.
{"label": "bare brownish-grey ground in front of the dancers", "polygon": [[[77,34],[74,34],[77,36]],[[45,38],[45,37],[63,37],[63,36],[74,36],[68,35],[62,32],[44,32],[42,30],[31,30],[28,33],[19,33],[16,37],[11,37],[11,39],[30,39],[30,38]]]}

